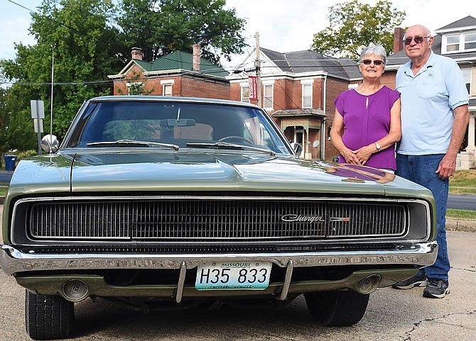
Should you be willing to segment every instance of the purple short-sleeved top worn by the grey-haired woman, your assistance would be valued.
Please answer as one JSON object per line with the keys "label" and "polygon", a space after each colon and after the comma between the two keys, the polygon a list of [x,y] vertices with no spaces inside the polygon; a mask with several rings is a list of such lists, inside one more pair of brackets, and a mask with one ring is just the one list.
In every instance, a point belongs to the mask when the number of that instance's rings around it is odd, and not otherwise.
{"label": "purple short-sleeved top worn by the grey-haired woman", "polygon": [[[362,95],[351,89],[337,96],[334,103],[344,118],[342,135],[344,144],[351,150],[357,150],[387,135],[390,130],[390,109],[399,97],[399,91],[389,89],[387,86],[383,86],[372,95]],[[366,108],[367,98],[369,104]],[[339,162],[345,162],[342,155]],[[374,153],[365,165],[396,170],[395,147]]]}

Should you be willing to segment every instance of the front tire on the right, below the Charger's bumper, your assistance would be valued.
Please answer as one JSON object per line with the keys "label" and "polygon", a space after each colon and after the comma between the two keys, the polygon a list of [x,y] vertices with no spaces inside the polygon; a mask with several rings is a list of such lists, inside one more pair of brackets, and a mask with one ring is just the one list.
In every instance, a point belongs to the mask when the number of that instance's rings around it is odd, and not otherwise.
{"label": "front tire on the right, below the Charger's bumper", "polygon": [[362,320],[369,295],[355,291],[320,291],[304,294],[310,315],[319,325],[347,326]]}

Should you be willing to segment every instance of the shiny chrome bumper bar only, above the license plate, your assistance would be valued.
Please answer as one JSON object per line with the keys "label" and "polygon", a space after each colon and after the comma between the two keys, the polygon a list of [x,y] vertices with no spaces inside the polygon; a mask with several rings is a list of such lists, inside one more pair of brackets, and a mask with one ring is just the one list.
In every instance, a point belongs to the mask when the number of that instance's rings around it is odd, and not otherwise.
{"label": "shiny chrome bumper bar only, above the license plate", "polygon": [[261,260],[279,267],[325,267],[335,265],[415,264],[421,267],[436,260],[437,242],[421,242],[379,251],[321,251],[247,254],[142,255],[142,254],[35,254],[1,245],[0,267],[6,274],[85,269],[193,269],[203,262]]}

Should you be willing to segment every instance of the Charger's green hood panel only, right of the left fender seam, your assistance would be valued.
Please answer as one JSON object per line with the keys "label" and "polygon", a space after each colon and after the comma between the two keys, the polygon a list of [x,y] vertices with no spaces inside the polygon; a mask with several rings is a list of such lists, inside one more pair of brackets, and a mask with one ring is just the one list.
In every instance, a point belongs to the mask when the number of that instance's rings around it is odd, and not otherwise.
{"label": "Charger's green hood panel only, right of the left fender seam", "polygon": [[388,184],[401,186],[392,174],[369,167],[236,152],[82,154],[76,155],[71,174],[72,191],[249,190],[383,195]]}

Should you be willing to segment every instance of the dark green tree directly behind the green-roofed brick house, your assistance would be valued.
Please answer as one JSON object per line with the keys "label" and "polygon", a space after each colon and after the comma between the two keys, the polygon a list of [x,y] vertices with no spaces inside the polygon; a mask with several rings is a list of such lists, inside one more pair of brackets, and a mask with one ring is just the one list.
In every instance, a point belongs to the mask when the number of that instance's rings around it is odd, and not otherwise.
{"label": "dark green tree directly behind the green-roofed brick house", "polygon": [[141,47],[146,60],[174,50],[192,52],[200,44],[202,56],[219,63],[247,46],[245,20],[225,0],[122,0],[119,24],[126,45]]}

